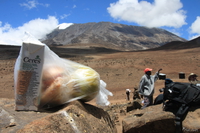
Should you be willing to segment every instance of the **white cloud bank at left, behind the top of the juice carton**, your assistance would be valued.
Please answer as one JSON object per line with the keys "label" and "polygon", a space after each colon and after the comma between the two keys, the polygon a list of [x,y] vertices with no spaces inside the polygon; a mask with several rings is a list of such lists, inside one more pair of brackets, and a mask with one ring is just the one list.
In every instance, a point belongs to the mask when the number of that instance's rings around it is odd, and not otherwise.
{"label": "white cloud bank at left, behind the top of the juice carton", "polygon": [[0,23],[0,44],[21,45],[25,32],[29,32],[37,39],[42,39],[58,26],[58,20],[54,16],[47,19],[37,18],[20,27],[13,28],[10,24]]}

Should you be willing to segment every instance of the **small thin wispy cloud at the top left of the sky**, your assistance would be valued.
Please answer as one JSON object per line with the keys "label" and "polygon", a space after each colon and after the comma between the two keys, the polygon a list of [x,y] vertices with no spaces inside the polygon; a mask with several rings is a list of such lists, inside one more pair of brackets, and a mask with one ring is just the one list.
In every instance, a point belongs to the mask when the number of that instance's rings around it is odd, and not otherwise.
{"label": "small thin wispy cloud at the top left of the sky", "polygon": [[49,4],[38,3],[36,0],[27,1],[27,3],[20,3],[20,6],[24,6],[28,9],[36,8],[38,5],[49,7]]}

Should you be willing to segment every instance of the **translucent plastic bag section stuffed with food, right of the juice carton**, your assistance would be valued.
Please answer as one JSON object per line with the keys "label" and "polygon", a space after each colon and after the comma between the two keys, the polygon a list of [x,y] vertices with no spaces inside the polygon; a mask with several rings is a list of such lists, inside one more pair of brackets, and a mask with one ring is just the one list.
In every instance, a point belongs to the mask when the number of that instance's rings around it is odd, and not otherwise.
{"label": "translucent plastic bag section stuffed with food, right of the juice carton", "polygon": [[92,68],[60,58],[45,46],[42,73],[41,107],[54,107],[80,99],[84,102],[97,97],[97,104],[109,104],[106,83]]}

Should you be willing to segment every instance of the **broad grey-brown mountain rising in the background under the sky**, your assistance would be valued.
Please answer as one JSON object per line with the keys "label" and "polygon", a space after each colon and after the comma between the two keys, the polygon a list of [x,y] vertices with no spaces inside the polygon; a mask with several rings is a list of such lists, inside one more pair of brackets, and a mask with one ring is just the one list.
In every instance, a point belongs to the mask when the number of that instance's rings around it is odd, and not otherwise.
{"label": "broad grey-brown mountain rising in the background under the sky", "polygon": [[160,47],[172,41],[186,40],[159,28],[129,26],[111,22],[73,24],[55,29],[43,42],[51,46],[93,44],[122,51]]}

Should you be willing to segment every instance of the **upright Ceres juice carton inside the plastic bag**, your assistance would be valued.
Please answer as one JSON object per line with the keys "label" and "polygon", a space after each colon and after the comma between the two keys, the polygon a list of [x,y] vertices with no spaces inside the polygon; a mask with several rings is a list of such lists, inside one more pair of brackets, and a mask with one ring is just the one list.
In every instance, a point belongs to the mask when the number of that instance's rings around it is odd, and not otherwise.
{"label": "upright Ceres juice carton inside the plastic bag", "polygon": [[15,110],[38,110],[44,63],[43,43],[23,42],[15,63]]}

